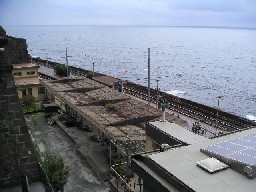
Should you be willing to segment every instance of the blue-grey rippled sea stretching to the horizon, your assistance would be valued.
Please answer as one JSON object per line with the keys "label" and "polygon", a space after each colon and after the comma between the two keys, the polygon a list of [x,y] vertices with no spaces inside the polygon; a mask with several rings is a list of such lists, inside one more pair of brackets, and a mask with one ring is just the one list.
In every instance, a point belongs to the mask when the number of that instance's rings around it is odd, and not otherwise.
{"label": "blue-grey rippled sea stretching to the horizon", "polygon": [[256,30],[124,26],[4,26],[29,53],[116,76],[224,111],[256,118]]}

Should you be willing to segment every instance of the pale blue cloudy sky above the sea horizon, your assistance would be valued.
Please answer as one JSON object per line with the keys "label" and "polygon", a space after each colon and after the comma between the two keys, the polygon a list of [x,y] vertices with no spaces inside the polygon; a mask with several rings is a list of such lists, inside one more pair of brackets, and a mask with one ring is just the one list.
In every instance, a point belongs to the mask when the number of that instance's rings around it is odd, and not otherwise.
{"label": "pale blue cloudy sky above the sea horizon", "polygon": [[256,0],[0,0],[0,24],[256,28]]}

